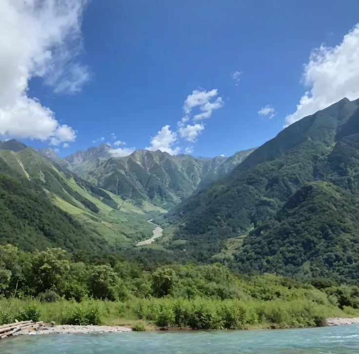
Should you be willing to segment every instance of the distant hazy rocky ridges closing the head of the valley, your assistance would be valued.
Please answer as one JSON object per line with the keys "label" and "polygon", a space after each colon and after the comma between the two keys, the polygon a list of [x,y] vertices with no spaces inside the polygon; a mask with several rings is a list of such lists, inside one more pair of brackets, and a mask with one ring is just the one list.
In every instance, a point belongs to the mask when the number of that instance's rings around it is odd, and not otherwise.
{"label": "distant hazy rocky ridges closing the head of the valley", "polygon": [[[106,148],[101,148],[106,146]],[[254,149],[231,158],[197,159],[190,155],[171,156],[167,152],[136,150],[126,157],[106,159],[110,147],[80,150],[67,161],[79,175],[92,184],[110,190],[137,205],[149,201],[168,209],[237,166]],[[79,159],[83,162],[80,163]]]}

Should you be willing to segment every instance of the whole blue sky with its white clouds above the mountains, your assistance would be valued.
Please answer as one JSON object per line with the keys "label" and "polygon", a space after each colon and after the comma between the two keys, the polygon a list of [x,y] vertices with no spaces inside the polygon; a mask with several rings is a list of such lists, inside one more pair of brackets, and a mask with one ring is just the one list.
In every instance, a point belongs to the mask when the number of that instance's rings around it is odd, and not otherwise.
{"label": "whole blue sky with its white clouds above the mountains", "polygon": [[230,156],[343,97],[358,0],[0,1],[0,140]]}

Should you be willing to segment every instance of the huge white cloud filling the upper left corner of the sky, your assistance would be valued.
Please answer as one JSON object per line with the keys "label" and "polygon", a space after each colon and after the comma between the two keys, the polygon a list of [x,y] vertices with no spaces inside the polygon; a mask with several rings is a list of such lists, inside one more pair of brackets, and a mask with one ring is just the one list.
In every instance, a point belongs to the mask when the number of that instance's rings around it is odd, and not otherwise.
{"label": "huge white cloud filling the upper left corner of the sky", "polygon": [[76,93],[89,79],[75,62],[82,50],[80,25],[85,0],[0,1],[0,134],[74,141],[55,113],[29,96],[29,81],[40,77],[56,92]]}

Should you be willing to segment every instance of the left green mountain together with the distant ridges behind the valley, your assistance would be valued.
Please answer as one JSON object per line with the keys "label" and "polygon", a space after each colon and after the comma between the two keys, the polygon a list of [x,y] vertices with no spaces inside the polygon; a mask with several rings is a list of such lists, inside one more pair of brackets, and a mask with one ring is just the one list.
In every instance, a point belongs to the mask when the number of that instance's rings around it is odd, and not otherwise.
{"label": "left green mountain together with the distant ridges behind the valley", "polygon": [[179,203],[178,195],[190,195],[206,175],[226,173],[251,152],[224,166],[223,157],[160,151],[114,158],[106,144],[65,159],[50,147],[35,150],[14,139],[0,147],[0,242],[25,250],[55,246],[91,252],[131,248],[150,238],[154,226],[146,221],[166,212],[161,207]]}

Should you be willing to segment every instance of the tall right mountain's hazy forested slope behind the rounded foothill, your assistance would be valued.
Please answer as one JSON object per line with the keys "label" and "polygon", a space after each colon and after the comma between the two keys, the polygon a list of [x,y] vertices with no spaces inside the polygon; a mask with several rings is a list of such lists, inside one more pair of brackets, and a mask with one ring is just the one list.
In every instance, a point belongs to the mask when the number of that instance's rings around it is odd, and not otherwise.
{"label": "tall right mountain's hazy forested slope behind the rounded foothill", "polygon": [[[177,225],[173,247],[186,249],[197,259],[206,261],[221,252],[225,240],[247,235],[254,229],[243,240],[246,254],[255,253],[261,260],[265,259],[261,249],[257,248],[258,238],[262,240],[262,247],[264,242],[267,247],[275,248],[271,254],[277,254],[276,250],[279,251],[281,246],[274,241],[275,235],[271,241],[263,240],[266,233],[256,228],[268,225],[268,222],[279,222],[281,208],[305,184],[331,182],[339,186],[335,190],[342,203],[348,208],[354,203],[348,195],[358,195],[358,132],[358,106],[347,99],[290,125],[256,149],[226,177],[201,190],[166,215],[164,225]],[[357,217],[354,210],[349,211],[351,222]],[[317,208],[315,212],[317,216],[313,222],[318,224],[324,220],[324,211]],[[292,230],[302,222],[299,215],[292,215]],[[320,229],[319,224],[317,229]],[[351,229],[349,234],[352,237],[349,242],[354,248],[359,236],[355,229]],[[257,241],[250,242],[251,235],[257,235]],[[247,255],[237,259],[247,260]],[[295,264],[293,267],[299,271],[303,263],[304,260],[300,266]],[[256,259],[253,266],[243,267],[247,267],[247,270],[258,269],[258,264],[259,260]],[[325,267],[335,272],[332,265]],[[293,272],[280,265],[278,269],[284,269],[283,273]],[[272,267],[273,270],[275,267]]]}

